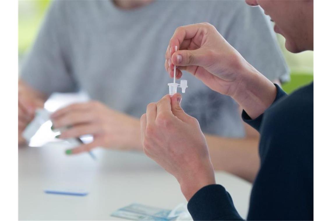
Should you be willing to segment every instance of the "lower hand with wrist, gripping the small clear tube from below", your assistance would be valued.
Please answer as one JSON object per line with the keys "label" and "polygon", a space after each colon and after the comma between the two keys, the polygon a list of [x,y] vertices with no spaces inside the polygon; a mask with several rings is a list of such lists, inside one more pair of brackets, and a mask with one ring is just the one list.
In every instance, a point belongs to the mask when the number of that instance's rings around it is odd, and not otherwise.
{"label": "lower hand with wrist, gripping the small clear tube from below", "polygon": [[198,190],[215,184],[206,139],[198,121],[180,107],[181,95],[165,95],[150,103],[141,117],[141,139],[147,156],[180,183],[189,200]]}

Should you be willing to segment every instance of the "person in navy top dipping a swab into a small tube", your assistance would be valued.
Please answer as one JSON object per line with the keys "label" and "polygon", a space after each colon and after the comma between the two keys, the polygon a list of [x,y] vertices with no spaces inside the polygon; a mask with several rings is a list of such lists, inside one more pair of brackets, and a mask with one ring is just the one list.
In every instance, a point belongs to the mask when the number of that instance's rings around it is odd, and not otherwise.
{"label": "person in navy top dipping a swab into a small tube", "polygon": [[[271,17],[290,52],[313,50],[313,1],[246,2]],[[232,97],[243,108],[242,119],[260,133],[260,169],[247,220],[313,220],[313,83],[287,95],[208,23],[177,28],[167,60],[170,77],[176,65],[177,78],[186,70]],[[181,98],[165,95],[147,106],[141,117],[145,154],[178,180],[194,220],[243,220],[230,194],[215,183],[206,139]]]}

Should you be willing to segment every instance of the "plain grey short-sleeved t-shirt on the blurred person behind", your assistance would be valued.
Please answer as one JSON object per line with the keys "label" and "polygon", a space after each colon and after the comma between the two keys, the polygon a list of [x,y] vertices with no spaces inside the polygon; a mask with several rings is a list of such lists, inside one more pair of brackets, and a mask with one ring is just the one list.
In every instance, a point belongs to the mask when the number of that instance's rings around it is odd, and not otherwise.
{"label": "plain grey short-sleeved t-shirt on the blurred person behind", "polygon": [[[244,1],[154,1],[122,10],[113,1],[54,1],[35,44],[21,66],[21,79],[46,93],[83,90],[110,108],[140,117],[168,93],[165,50],[179,26],[214,25],[243,57],[270,80],[289,70],[271,22]],[[189,73],[182,107],[203,132],[245,135],[238,105]]]}

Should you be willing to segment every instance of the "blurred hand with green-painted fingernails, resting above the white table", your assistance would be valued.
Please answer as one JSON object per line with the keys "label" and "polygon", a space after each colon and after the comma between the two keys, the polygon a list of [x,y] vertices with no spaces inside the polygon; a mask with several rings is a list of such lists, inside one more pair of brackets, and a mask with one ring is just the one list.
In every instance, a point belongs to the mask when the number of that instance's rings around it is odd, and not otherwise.
{"label": "blurred hand with green-painted fingernails, resting above the white table", "polygon": [[142,149],[139,120],[110,109],[98,101],[71,104],[51,115],[53,128],[67,128],[58,138],[77,138],[91,134],[94,140],[67,154],[90,151],[95,147]]}

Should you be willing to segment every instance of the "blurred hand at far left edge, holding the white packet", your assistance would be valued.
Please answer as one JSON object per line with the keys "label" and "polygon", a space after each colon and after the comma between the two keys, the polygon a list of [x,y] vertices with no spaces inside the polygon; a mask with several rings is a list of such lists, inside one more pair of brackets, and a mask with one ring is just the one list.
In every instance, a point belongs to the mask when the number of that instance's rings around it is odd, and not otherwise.
{"label": "blurred hand at far left edge, holding the white packet", "polygon": [[34,119],[37,108],[43,108],[44,99],[37,96],[31,88],[19,82],[18,92],[18,144],[26,142],[22,133],[27,125]]}

